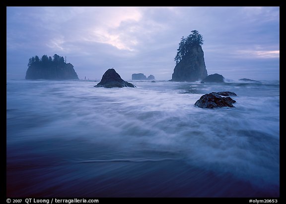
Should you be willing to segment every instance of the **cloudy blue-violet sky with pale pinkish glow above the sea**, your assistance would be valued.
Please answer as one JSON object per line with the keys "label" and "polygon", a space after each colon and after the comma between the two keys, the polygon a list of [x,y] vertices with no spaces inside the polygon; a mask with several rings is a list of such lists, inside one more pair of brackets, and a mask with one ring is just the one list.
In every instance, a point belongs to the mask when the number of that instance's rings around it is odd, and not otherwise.
{"label": "cloudy blue-violet sky with pale pinkish glow above the sea", "polygon": [[182,36],[198,30],[208,74],[278,80],[279,7],[7,7],[7,79],[25,79],[29,58],[67,57],[79,79],[114,68],[169,80]]}

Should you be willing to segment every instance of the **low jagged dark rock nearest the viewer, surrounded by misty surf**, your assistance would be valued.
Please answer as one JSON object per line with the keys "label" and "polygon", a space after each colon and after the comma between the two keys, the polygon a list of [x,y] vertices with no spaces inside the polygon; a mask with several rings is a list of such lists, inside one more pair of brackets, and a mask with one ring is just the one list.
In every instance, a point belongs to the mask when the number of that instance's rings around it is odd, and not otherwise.
{"label": "low jagged dark rock nearest the viewer, surrounded by misty surf", "polygon": [[[203,95],[197,102],[195,102],[195,105],[197,105],[198,107],[202,107],[202,108],[235,107],[233,106],[232,103],[236,101],[234,101],[230,97],[221,97],[219,96],[218,93],[212,92],[210,94]],[[233,93],[233,92],[230,92],[230,93]],[[233,96],[236,96],[236,94]]]}

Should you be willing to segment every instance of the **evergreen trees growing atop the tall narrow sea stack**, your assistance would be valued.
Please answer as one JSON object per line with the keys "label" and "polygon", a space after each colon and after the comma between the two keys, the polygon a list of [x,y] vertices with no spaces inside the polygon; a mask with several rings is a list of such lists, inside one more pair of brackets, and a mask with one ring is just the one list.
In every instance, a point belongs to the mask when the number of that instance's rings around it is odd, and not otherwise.
{"label": "evergreen trees growing atop the tall narrow sea stack", "polygon": [[192,30],[191,34],[184,38],[181,38],[179,43],[179,48],[177,49],[177,55],[175,57],[175,62],[178,64],[183,56],[187,55],[194,46],[203,45],[204,43],[203,36],[197,30]]}

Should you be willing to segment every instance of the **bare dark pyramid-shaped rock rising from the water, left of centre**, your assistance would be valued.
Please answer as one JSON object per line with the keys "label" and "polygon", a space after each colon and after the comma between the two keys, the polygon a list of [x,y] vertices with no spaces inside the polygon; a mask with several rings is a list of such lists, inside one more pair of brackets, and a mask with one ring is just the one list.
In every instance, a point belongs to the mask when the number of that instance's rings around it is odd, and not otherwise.
{"label": "bare dark pyramid-shaped rock rising from the water, left of centre", "polygon": [[101,81],[94,87],[104,88],[122,88],[122,87],[136,87],[133,84],[121,79],[120,75],[112,68],[108,69],[102,76]]}

